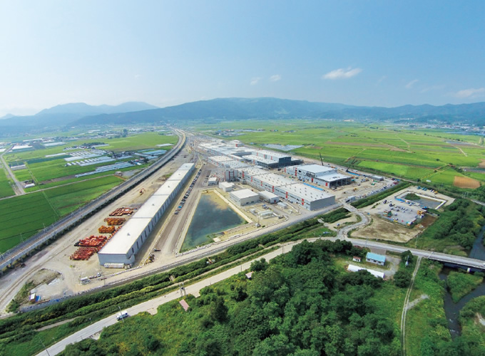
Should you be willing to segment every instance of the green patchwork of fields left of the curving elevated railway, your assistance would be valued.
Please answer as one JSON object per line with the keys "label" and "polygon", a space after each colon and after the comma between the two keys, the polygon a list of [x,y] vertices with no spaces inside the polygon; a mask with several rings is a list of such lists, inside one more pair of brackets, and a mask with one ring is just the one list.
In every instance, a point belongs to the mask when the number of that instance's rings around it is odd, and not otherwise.
{"label": "green patchwork of fields left of the curving elevated railway", "polygon": [[[168,132],[167,132],[168,133]],[[65,157],[71,152],[65,147],[73,147],[91,142],[105,142],[108,146],[100,147],[106,151],[124,152],[155,149],[157,145],[172,144],[178,141],[176,135],[163,135],[158,132],[143,132],[127,137],[109,139],[81,139],[71,141],[66,145],[40,148],[26,152],[9,152],[4,158],[10,165],[26,164],[25,169],[14,171],[19,181],[33,180],[35,187],[25,189],[27,193],[19,197],[0,200],[0,253],[16,246],[23,239],[36,234],[37,231],[57,221],[61,216],[71,213],[92,199],[96,199],[109,189],[123,182],[123,179],[113,176],[113,170],[92,174],[87,177],[74,177],[74,174],[90,172],[113,162],[92,164],[86,167],[71,165],[66,167]],[[163,147],[169,150],[170,147]],[[59,155],[64,153],[65,155]],[[54,157],[46,157],[56,155]],[[123,159],[128,160],[128,159]],[[118,161],[119,162],[119,161]],[[143,169],[149,164],[136,165],[116,169],[126,171]],[[39,191],[41,192],[36,192]],[[0,172],[0,198],[13,196],[10,182],[4,169]]]}

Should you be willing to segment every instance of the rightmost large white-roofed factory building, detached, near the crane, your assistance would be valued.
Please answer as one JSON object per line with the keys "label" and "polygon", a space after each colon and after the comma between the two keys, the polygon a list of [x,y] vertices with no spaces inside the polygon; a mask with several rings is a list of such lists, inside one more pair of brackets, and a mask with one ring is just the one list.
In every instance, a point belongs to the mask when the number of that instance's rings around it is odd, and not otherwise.
{"label": "rightmost large white-roofed factory building, detached, near the crane", "polygon": [[313,184],[329,188],[340,187],[352,182],[352,177],[339,174],[337,169],[320,166],[318,164],[304,164],[302,166],[286,167],[285,172],[294,175],[302,181],[312,182]]}

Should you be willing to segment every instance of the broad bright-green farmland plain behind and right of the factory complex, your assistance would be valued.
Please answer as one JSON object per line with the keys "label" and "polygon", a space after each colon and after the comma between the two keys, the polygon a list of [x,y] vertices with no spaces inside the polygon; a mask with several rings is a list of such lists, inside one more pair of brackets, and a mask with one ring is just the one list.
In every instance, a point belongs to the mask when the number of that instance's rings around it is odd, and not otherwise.
{"label": "broad bright-green farmland plain behind and right of the factory complex", "polygon": [[[248,127],[253,130],[245,130]],[[405,179],[429,180],[449,186],[454,185],[454,177],[485,182],[485,170],[484,173],[465,172],[467,167],[478,169],[485,155],[479,135],[323,120],[252,120],[225,122],[219,127],[199,125],[198,128],[203,132],[241,130],[228,139],[235,138],[258,147],[267,143],[303,145],[292,150],[292,154],[313,159],[320,159],[322,155],[327,162]],[[461,172],[452,166],[465,169]]]}

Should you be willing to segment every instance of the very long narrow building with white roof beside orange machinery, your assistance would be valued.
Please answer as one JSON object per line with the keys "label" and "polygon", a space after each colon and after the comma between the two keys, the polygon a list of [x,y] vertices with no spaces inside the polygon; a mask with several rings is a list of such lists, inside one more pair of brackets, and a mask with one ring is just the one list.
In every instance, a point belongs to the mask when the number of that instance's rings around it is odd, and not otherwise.
{"label": "very long narrow building with white roof beside orange machinery", "polygon": [[135,255],[153,231],[163,213],[183,187],[195,164],[185,163],[126,221],[108,244],[98,252],[99,263],[132,265]]}

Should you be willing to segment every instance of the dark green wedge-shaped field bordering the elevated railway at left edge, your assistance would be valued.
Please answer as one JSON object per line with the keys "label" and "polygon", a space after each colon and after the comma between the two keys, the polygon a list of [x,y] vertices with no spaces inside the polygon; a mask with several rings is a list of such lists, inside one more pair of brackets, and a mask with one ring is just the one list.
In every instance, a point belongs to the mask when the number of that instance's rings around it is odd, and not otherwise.
{"label": "dark green wedge-shaped field bordering the elevated railway at left edge", "polygon": [[0,200],[0,253],[123,182],[101,177]]}

